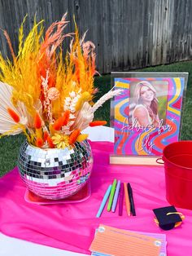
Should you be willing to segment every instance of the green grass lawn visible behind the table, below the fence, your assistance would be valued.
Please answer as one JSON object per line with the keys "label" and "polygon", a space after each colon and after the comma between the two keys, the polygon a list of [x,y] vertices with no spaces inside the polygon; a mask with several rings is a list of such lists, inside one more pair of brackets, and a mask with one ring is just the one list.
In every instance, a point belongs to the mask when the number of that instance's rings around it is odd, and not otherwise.
{"label": "green grass lawn visible behind the table, below the fence", "polygon": [[[181,139],[192,139],[192,61],[180,62],[176,64],[162,65],[152,68],[144,68],[137,71],[144,72],[188,72],[189,80],[185,99],[185,109],[183,113],[183,123],[181,130]],[[99,92],[97,98],[101,97],[111,88],[110,75],[95,78],[95,86],[98,87]],[[103,108],[98,109],[95,115],[96,120],[107,120],[109,126],[110,120],[110,101],[103,104]],[[9,136],[0,139],[0,175],[16,166],[17,155],[20,144],[24,141],[24,135]]]}

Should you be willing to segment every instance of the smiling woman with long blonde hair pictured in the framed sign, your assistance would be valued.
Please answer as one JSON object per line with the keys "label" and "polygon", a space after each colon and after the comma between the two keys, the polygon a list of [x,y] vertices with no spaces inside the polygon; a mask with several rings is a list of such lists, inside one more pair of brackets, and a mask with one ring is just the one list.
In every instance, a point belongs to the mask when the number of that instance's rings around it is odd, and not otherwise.
{"label": "smiling woman with long blonde hair pictured in the framed sign", "polygon": [[134,90],[133,126],[159,127],[158,99],[150,82],[138,82]]}

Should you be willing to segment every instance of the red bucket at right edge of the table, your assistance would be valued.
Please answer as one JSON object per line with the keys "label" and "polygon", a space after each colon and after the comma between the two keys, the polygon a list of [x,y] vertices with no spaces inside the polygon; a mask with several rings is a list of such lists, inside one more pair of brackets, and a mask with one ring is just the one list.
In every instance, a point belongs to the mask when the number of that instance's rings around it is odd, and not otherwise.
{"label": "red bucket at right edge of the table", "polygon": [[192,141],[168,144],[162,159],[167,201],[171,205],[192,210]]}

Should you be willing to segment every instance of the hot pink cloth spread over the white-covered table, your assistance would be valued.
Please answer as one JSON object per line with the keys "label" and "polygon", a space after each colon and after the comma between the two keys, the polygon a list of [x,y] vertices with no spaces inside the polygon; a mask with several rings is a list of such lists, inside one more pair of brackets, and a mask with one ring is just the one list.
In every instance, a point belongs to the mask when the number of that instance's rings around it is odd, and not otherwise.
{"label": "hot pink cloth spread over the white-covered table", "polygon": [[[89,253],[94,230],[99,223],[143,232],[167,235],[168,255],[192,255],[192,217],[185,214],[181,227],[164,232],[153,221],[152,209],[168,205],[165,199],[164,168],[142,166],[110,166],[112,143],[91,143],[94,170],[91,176],[91,196],[87,201],[65,205],[33,205],[24,201],[25,188],[17,169],[0,179],[0,231],[7,236],[50,245],[59,249]],[[103,194],[113,179],[130,182],[137,217],[122,217],[103,212],[95,218]]]}

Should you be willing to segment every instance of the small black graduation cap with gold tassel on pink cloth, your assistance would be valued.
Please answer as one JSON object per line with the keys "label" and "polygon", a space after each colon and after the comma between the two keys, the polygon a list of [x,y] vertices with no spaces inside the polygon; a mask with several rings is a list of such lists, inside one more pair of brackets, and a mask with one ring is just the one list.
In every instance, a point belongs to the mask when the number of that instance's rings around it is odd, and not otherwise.
{"label": "small black graduation cap with gold tassel on pink cloth", "polygon": [[182,221],[180,215],[177,214],[177,210],[173,205],[154,209],[153,212],[155,213],[155,216],[159,222],[159,227],[164,230],[172,229],[175,226],[175,223]]}

